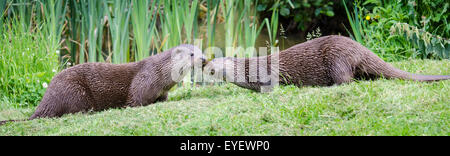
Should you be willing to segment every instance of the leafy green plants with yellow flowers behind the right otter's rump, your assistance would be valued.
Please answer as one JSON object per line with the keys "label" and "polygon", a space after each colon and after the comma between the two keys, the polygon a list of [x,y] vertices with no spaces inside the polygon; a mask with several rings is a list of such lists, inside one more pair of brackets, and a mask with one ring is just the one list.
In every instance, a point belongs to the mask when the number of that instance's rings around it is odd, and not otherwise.
{"label": "leafy green plants with yellow flowers behind the right otter's rump", "polygon": [[[444,4],[442,5],[444,6]],[[377,53],[384,60],[396,61],[417,57],[448,58],[445,55],[448,50],[443,42],[448,39],[432,37],[436,36],[432,33],[434,32],[433,27],[437,26],[439,29],[444,27],[439,24],[432,25],[426,20],[419,24],[421,20],[417,18],[420,16],[417,13],[421,11],[414,1],[368,0],[364,3],[356,1],[353,7],[355,8],[353,12],[347,12],[352,27],[350,34],[356,41]],[[441,13],[440,10],[438,12]],[[435,12],[435,14],[437,13]],[[439,17],[443,17],[445,14],[447,13],[443,13]],[[427,19],[426,16],[423,17]],[[442,19],[440,22],[446,23],[446,20]],[[401,23],[408,23],[408,26],[401,26]],[[417,33],[411,33],[416,31]],[[412,34],[415,34],[416,37],[413,37]]]}

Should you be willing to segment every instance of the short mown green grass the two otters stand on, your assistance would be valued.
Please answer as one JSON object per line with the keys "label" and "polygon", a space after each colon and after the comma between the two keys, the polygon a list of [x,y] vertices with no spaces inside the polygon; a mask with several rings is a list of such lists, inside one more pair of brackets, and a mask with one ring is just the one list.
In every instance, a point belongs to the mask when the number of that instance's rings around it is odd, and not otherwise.
{"label": "short mown green grass the two otters stand on", "polygon": [[[450,61],[396,67],[450,74]],[[177,88],[169,101],[58,119],[8,123],[0,135],[449,135],[450,81],[360,81],[332,87],[281,86],[255,93],[232,84]],[[0,120],[34,108],[2,108]]]}

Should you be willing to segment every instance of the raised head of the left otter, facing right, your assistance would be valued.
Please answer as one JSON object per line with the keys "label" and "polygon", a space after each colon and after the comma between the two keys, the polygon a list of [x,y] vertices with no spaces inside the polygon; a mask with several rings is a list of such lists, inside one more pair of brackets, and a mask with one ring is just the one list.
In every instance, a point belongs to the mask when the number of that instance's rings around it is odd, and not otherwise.
{"label": "raised head of the left otter, facing right", "polygon": [[206,65],[202,50],[193,45],[180,45],[171,49],[172,80],[179,82],[193,68],[203,68]]}

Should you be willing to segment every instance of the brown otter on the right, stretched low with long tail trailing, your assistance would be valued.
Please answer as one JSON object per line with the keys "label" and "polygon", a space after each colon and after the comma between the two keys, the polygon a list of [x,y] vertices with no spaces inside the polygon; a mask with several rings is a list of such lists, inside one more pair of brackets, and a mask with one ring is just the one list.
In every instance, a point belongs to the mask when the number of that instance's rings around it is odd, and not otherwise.
{"label": "brown otter on the right, stretched low with long tail trailing", "polygon": [[[270,68],[277,58],[277,70]],[[249,62],[265,62],[266,65]],[[273,64],[272,64],[273,65]],[[223,57],[210,61],[205,74],[260,92],[271,80],[281,85],[331,86],[385,77],[414,81],[450,79],[449,75],[411,74],[384,62],[369,49],[348,37],[331,35],[297,44],[279,53],[252,58]],[[251,73],[250,71],[256,71]],[[273,77],[260,75],[261,70]],[[241,74],[239,74],[241,73]],[[239,81],[239,79],[241,81]],[[251,81],[251,80],[254,81]],[[263,80],[265,79],[265,80]]]}

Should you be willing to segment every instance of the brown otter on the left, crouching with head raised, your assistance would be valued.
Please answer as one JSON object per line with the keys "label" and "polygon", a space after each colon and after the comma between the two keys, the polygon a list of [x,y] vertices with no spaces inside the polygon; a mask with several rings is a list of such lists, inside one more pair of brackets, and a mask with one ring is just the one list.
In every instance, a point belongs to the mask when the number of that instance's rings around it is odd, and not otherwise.
{"label": "brown otter on the left, crouching with head raised", "polygon": [[[193,45],[180,45],[134,63],[79,64],[52,79],[28,120],[165,101],[168,91],[194,65],[205,64],[202,51]],[[15,120],[0,125],[11,121]]]}

